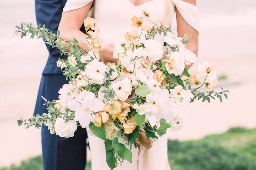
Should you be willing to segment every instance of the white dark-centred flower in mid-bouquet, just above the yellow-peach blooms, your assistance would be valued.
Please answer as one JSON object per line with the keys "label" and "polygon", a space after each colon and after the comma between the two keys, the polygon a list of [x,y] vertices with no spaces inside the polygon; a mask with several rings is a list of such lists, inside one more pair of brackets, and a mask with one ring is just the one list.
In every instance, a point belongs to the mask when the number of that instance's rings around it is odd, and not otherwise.
{"label": "white dark-centred flower in mid-bouquet, just above the yellow-peach blooms", "polygon": [[125,101],[128,96],[131,94],[132,91],[132,85],[131,80],[126,78],[123,78],[122,80],[117,81],[116,83],[111,83],[110,87],[114,90],[116,93],[116,100],[122,100]]}

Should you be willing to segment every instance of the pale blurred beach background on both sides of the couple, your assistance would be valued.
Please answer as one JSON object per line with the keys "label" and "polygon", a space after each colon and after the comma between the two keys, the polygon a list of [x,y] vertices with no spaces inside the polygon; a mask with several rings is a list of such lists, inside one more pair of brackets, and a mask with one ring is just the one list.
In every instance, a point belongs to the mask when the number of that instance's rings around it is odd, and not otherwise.
{"label": "pale blurred beach background on both sides of the couple", "polygon": [[[14,25],[27,20],[35,22],[33,3],[3,0],[0,5],[0,15],[5,16],[0,18],[0,167],[41,154],[40,130],[19,127],[16,121],[33,114],[47,50],[42,40],[20,40],[16,36],[9,40],[15,31]],[[253,90],[256,3],[247,3],[198,1],[201,11],[198,62],[216,62],[219,75],[224,73],[228,78],[219,81],[215,90],[221,86],[231,93],[223,103],[212,101],[209,105],[198,101],[187,107],[183,129],[169,131],[170,139],[198,139],[233,126],[256,127],[256,92]]]}

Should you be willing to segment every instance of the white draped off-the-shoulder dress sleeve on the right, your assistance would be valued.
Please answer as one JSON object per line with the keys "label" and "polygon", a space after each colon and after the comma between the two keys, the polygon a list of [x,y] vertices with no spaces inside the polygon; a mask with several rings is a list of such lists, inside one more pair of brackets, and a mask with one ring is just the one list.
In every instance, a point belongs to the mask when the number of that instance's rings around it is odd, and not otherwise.
{"label": "white draped off-the-shoulder dress sleeve on the right", "polygon": [[171,0],[184,20],[199,32],[199,11],[196,6],[182,0]]}

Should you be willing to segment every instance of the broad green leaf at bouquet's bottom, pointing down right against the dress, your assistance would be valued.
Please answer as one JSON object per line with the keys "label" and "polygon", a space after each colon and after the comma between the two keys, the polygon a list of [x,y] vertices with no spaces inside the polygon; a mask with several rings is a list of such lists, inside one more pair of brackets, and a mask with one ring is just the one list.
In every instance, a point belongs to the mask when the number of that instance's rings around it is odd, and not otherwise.
{"label": "broad green leaf at bouquet's bottom, pointing down right against the dress", "polygon": [[119,137],[114,138],[112,142],[112,146],[118,155],[120,155],[123,159],[131,163],[132,153],[121,138]]}

